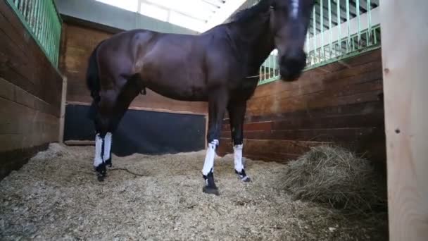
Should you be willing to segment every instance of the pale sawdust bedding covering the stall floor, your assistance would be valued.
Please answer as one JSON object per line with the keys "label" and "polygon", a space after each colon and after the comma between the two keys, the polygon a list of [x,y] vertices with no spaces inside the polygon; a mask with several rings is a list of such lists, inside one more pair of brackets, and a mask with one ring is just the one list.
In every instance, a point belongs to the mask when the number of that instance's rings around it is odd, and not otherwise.
{"label": "pale sawdust bedding covering the stall floor", "polygon": [[286,166],[215,161],[220,195],[203,194],[204,152],[113,156],[103,183],[93,147],[51,144],[0,183],[0,240],[386,240],[386,215],[348,216],[291,199]]}

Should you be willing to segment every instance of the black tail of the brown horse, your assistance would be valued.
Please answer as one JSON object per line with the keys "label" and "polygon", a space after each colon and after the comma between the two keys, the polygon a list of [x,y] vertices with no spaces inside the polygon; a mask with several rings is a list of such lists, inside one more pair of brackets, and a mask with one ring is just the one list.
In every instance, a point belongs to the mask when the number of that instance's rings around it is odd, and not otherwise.
{"label": "black tail of the brown horse", "polygon": [[98,73],[98,62],[96,61],[96,54],[99,46],[103,41],[101,41],[92,51],[91,56],[89,56],[88,68],[86,72],[86,83],[89,91],[91,92],[91,97],[93,99],[91,107],[89,108],[88,117],[94,119],[96,115],[96,106],[101,99],[99,92],[101,90],[99,73]]}

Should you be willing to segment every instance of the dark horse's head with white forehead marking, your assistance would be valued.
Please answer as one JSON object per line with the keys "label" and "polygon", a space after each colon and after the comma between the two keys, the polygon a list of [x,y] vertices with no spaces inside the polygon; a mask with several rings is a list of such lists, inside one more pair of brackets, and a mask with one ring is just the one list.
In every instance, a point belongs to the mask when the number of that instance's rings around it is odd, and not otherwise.
{"label": "dark horse's head with white forehead marking", "polygon": [[279,52],[282,80],[296,80],[306,66],[303,50],[315,0],[270,0],[270,27]]}

